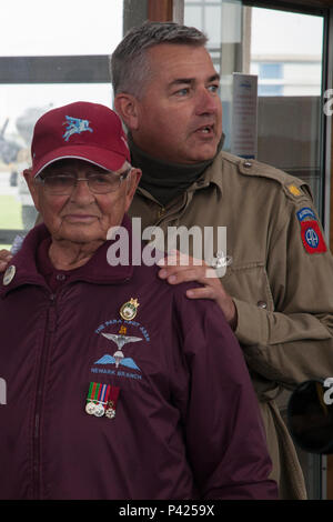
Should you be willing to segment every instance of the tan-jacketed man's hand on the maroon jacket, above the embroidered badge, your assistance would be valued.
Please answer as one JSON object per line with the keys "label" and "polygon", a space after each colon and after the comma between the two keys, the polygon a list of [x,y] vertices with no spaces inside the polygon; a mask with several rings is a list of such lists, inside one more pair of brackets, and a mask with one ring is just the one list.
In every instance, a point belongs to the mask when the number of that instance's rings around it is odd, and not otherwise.
{"label": "tan-jacketed man's hand on the maroon jacket, above the embroidered badge", "polygon": [[188,290],[186,297],[190,299],[212,299],[215,301],[231,328],[235,330],[238,323],[235,304],[225,292],[220,279],[211,267],[202,260],[182,254],[179,251],[163,258],[158,264],[161,267],[159,277],[167,279],[170,284],[179,284],[185,281],[196,281],[203,284],[203,288]]}

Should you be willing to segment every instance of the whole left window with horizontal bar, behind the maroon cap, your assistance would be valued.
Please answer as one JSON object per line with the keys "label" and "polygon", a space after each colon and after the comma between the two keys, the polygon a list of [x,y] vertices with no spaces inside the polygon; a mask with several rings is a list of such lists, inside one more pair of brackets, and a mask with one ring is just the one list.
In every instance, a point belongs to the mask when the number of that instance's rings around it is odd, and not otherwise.
{"label": "whole left window with horizontal bar, behind the maroon cap", "polygon": [[95,0],[93,9],[80,0],[58,0],[52,8],[12,0],[2,10],[0,249],[34,224],[22,171],[30,165],[37,119],[78,100],[112,107],[108,56],[122,37],[122,8],[123,0]]}

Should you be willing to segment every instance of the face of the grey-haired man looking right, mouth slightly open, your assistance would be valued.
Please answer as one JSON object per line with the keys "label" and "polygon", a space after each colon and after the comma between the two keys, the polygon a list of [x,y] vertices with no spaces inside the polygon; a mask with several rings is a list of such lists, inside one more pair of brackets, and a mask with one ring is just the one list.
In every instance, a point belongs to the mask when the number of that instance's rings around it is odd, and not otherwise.
{"label": "face of the grey-haired man looking right, mouth slightly open", "polygon": [[222,134],[219,74],[204,47],[159,44],[148,50],[152,77],[138,101],[135,143],[174,163],[211,159]]}

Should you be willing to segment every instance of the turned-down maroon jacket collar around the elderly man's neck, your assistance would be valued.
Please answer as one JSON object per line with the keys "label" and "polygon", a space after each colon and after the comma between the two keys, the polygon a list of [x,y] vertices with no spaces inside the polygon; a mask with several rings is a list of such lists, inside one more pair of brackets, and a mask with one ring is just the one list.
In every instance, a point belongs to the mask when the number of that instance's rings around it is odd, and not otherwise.
{"label": "turned-down maroon jacket collar around the elderly man's neck", "polygon": [[[140,238],[132,238],[132,227],[128,215],[124,215],[121,227],[123,227],[123,235],[115,234],[114,239],[105,241],[88,263],[73,270],[68,279],[69,283],[80,280],[98,284],[115,284],[129,281],[132,278],[133,265],[131,264],[131,258],[137,249],[140,249],[141,255],[141,240]],[[21,250],[12,258],[11,264],[4,274],[1,274],[0,297],[7,295],[8,292],[22,284],[34,284],[48,289],[44,278],[37,269],[36,261],[38,248],[47,238],[50,238],[50,233],[43,223],[34,227],[28,233]],[[108,261],[108,251],[112,244],[117,247],[115,243],[119,238],[122,238],[122,251],[129,253],[128,264],[112,265]]]}

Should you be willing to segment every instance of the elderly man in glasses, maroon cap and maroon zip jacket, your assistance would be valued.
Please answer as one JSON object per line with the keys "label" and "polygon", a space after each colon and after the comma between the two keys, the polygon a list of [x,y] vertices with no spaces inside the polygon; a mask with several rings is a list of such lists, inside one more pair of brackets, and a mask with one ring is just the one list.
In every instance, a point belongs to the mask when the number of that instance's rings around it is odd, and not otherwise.
{"label": "elderly man in glasses, maroon cap and maroon zip jacket", "polygon": [[275,499],[219,307],[190,301],[157,267],[111,262],[114,229],[141,250],[124,215],[141,172],[118,116],[51,110],[31,155],[43,224],[0,280],[0,498]]}

